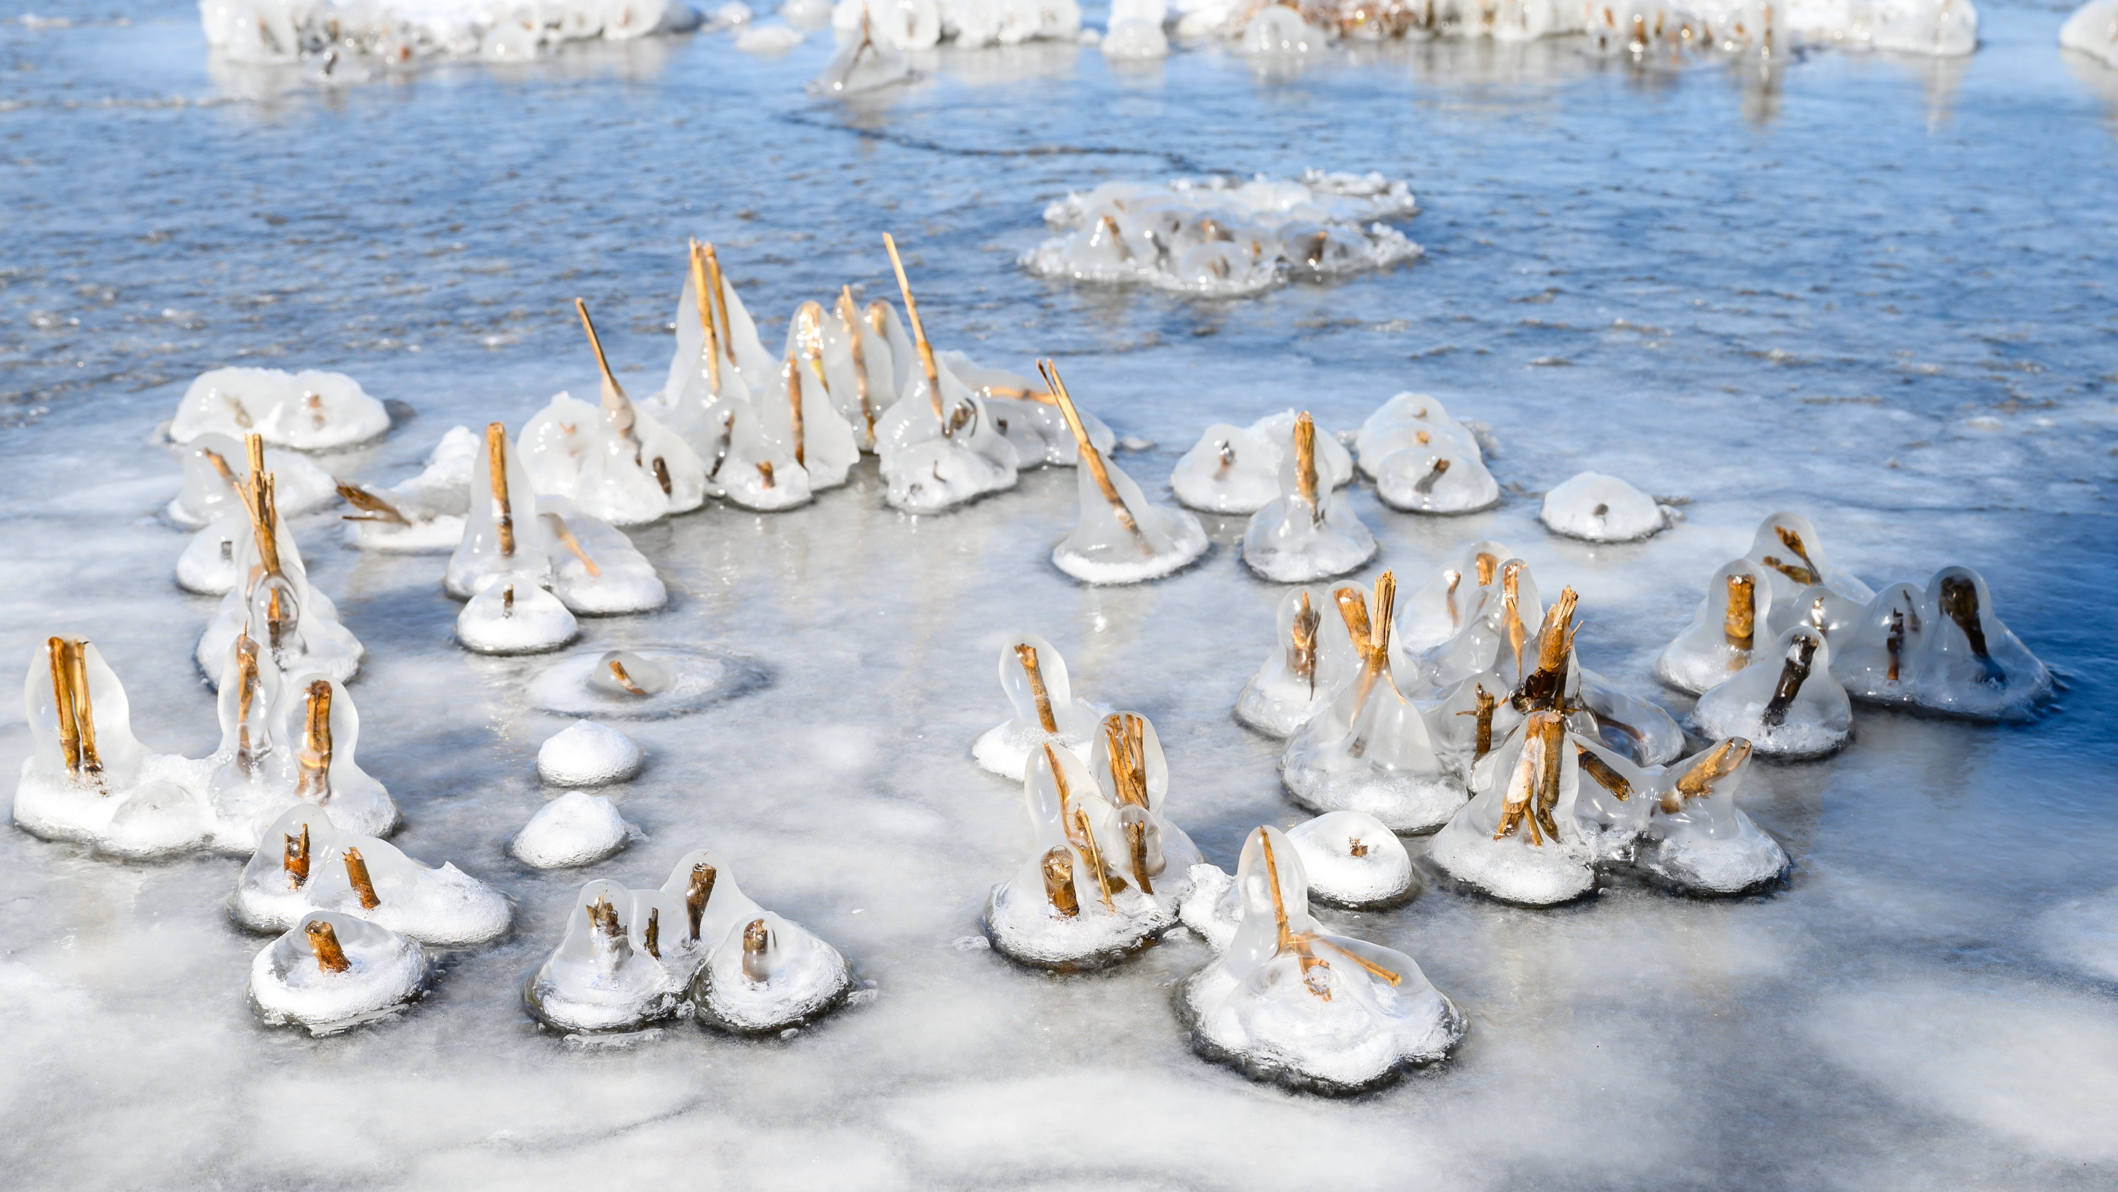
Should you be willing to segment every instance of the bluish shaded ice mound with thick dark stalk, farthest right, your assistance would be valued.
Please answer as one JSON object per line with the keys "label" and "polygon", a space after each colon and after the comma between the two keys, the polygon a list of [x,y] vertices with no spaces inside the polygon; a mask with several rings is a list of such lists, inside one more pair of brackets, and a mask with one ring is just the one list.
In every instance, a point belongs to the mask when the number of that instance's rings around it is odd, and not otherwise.
{"label": "bluish shaded ice mound with thick dark stalk, farthest right", "polygon": [[2052,692],[2052,671],[2002,625],[1970,567],[1944,567],[1925,589],[1891,584],[1828,637],[1832,678],[1870,703],[2021,720]]}

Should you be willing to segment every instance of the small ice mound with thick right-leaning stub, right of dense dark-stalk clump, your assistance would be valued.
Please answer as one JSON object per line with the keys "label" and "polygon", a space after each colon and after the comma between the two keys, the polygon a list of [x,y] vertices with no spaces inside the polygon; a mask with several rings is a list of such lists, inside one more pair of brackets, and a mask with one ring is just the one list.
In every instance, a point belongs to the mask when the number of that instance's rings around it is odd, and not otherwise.
{"label": "small ice mound with thick right-leaning stub, right of dense dark-stalk clump", "polygon": [[1779,881],[1788,853],[1735,805],[1749,741],[1720,741],[1658,777],[1639,868],[1686,893],[1747,893]]}

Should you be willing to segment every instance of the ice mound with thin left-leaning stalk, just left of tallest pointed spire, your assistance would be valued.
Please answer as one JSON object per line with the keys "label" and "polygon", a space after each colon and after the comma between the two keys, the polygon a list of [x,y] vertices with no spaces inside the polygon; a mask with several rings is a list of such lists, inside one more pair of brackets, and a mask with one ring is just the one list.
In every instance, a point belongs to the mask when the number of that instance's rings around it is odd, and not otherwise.
{"label": "ice mound with thin left-leaning stalk, just left of tallest pointed spire", "polygon": [[[610,373],[589,307],[574,299],[589,335],[602,400],[555,394],[525,426],[517,449],[534,491],[561,495],[612,525],[644,525],[705,504],[705,468],[688,443],[625,396]],[[530,491],[530,489],[525,489]]]}

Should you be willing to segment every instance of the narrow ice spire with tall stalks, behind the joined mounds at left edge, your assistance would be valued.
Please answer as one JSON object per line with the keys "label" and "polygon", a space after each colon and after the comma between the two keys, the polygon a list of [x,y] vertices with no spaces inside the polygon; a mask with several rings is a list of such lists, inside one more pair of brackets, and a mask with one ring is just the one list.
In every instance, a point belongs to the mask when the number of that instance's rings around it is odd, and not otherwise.
{"label": "narrow ice spire with tall stalks, behind the joined mounds at left edge", "polygon": [[239,493],[250,534],[239,536],[233,546],[235,574],[241,582],[220,597],[220,608],[199,635],[193,656],[199,669],[218,682],[220,663],[235,637],[248,633],[282,675],[324,671],[345,682],[360,671],[360,642],[339,625],[339,610],[330,597],[309,584],[294,534],[280,521],[263,443],[252,434],[246,447],[250,474],[244,476]]}

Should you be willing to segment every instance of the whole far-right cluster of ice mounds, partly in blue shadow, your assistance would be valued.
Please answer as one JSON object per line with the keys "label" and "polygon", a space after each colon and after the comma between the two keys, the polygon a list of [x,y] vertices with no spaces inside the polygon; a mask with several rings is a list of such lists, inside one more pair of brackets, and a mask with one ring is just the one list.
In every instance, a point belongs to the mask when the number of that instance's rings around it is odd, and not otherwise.
{"label": "whole far-right cluster of ice mounds, partly in blue shadow", "polygon": [[1809,519],[1764,519],[1724,563],[1654,665],[1703,692],[1701,726],[1754,737],[1760,752],[1817,756],[1851,735],[1847,699],[1980,720],[2016,720],[2052,673],[1993,612],[1985,576],[1944,567],[1881,593],[1824,561]]}

